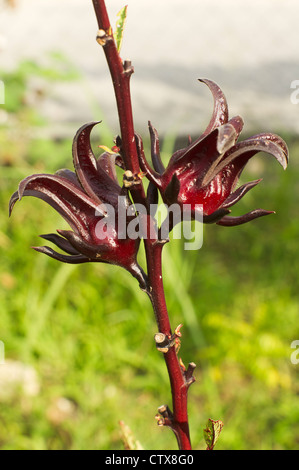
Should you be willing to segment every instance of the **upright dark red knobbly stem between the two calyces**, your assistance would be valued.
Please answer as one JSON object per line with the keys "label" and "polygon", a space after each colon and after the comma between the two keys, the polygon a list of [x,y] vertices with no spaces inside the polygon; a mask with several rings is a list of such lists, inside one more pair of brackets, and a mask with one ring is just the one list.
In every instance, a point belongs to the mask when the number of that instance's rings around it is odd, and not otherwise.
{"label": "upright dark red knobbly stem between the two calyces", "polygon": [[[130,62],[126,61],[123,63],[119,56],[105,1],[93,0],[93,6],[99,27],[97,40],[103,46],[115,91],[122,138],[122,155],[125,167],[136,175],[139,173],[140,167],[135,142],[130,94],[130,77],[133,73],[133,68]],[[135,203],[147,205],[142,181],[134,187],[131,193]],[[147,226],[149,227],[152,223],[153,221],[150,220],[150,216],[148,216]],[[159,242],[148,237],[144,239],[144,244],[148,268],[147,294],[153,305],[159,332],[166,335],[167,338],[170,338],[172,332],[162,279],[162,249],[164,242]],[[191,442],[187,413],[187,393],[189,385],[194,381],[192,371],[191,377],[188,379],[186,371],[179,362],[175,346],[171,346],[169,350],[164,353],[164,359],[170,379],[173,405],[173,413],[165,419],[164,424],[170,426],[174,431],[179,448],[181,450],[190,450]],[[190,371],[190,369],[188,369],[188,371]]]}

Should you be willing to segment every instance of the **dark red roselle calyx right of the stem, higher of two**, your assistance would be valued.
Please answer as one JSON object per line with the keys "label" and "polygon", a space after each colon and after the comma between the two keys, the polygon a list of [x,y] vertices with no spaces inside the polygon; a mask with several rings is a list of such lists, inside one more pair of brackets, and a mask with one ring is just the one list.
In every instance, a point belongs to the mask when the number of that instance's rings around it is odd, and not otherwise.
{"label": "dark red roselle calyx right of the stem, higher of two", "polygon": [[228,215],[236,204],[261,179],[237,187],[247,162],[258,152],[272,155],[285,169],[288,164],[286,143],[276,134],[262,133],[238,142],[243,129],[240,116],[229,119],[226,98],[216,83],[200,80],[211,90],[214,109],[203,134],[194,142],[176,151],[165,168],[160,156],[159,137],[149,123],[153,168],[147,162],[142,141],[137,136],[137,150],[141,170],[150,181],[149,192],[157,188],[167,206],[179,204],[191,206],[196,216],[198,206],[204,223],[239,225],[257,217],[273,213],[255,209],[239,217]]}

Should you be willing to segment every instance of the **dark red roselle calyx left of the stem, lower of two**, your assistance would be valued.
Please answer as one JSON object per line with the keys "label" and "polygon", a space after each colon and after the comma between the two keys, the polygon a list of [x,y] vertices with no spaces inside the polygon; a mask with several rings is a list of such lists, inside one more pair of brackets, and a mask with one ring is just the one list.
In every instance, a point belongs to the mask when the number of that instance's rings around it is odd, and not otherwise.
{"label": "dark red roselle calyx left of the stem, lower of two", "polygon": [[[146,275],[137,263],[140,239],[118,233],[120,201],[125,206],[125,213],[129,214],[127,222],[135,217],[134,209],[130,207],[127,191],[118,183],[116,156],[107,152],[98,159],[94,156],[90,133],[95,124],[97,122],[82,126],[73,140],[75,172],[62,169],[54,175],[28,176],[12,195],[9,213],[23,196],[42,199],[67,221],[72,230],[41,235],[65,254],[48,246],[34,247],[36,251],[65,263],[91,261],[121,266],[137,278],[141,288],[145,288]],[[114,211],[113,223],[107,218],[108,207]]]}

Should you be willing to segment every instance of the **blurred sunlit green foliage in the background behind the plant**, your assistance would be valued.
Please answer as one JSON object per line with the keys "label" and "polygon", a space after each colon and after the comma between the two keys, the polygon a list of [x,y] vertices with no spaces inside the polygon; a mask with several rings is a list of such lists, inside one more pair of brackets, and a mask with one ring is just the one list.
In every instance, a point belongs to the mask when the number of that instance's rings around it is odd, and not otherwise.
{"label": "blurred sunlit green foliage in the background behind the plant", "polygon": [[[10,95],[0,107],[0,448],[121,449],[122,420],[144,449],[176,449],[154,419],[171,397],[137,282],[117,267],[68,266],[31,250],[38,234],[64,227],[42,201],[25,198],[7,216],[20,179],[72,166],[70,140],[32,132],[45,124],[37,111],[43,91],[28,101],[28,81],[62,78],[56,74],[22,64],[5,76]],[[299,365],[290,360],[299,339],[299,141],[285,138],[288,170],[255,157],[244,181],[264,181],[233,209],[276,215],[205,226],[199,251],[184,251],[180,240],[164,250],[171,323],[183,323],[179,354],[197,364],[189,392],[195,449],[205,448],[208,418],[224,422],[218,449],[299,449]],[[165,138],[166,161],[173,140]]]}

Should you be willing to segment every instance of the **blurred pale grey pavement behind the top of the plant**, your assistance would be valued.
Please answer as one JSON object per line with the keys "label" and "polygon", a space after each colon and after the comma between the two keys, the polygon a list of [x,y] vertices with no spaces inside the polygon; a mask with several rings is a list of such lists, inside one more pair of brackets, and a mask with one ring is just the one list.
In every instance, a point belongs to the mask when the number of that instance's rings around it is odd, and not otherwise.
{"label": "blurred pale grey pavement behind the top of the plant", "polygon": [[[91,0],[19,0],[0,13],[0,68],[31,58],[44,63],[63,52],[84,77],[53,85],[42,105],[53,135],[73,135],[82,123],[103,117],[118,132],[112,85]],[[199,77],[224,90],[231,115],[245,132],[299,132],[299,104],[291,82],[299,80],[298,0],[107,0],[112,25],[128,4],[122,57],[135,68],[135,127],[150,119],[160,134],[199,134],[212,99]],[[1,77],[0,77],[1,79]],[[87,91],[88,90],[88,91]],[[92,102],[103,116],[94,114]]]}

